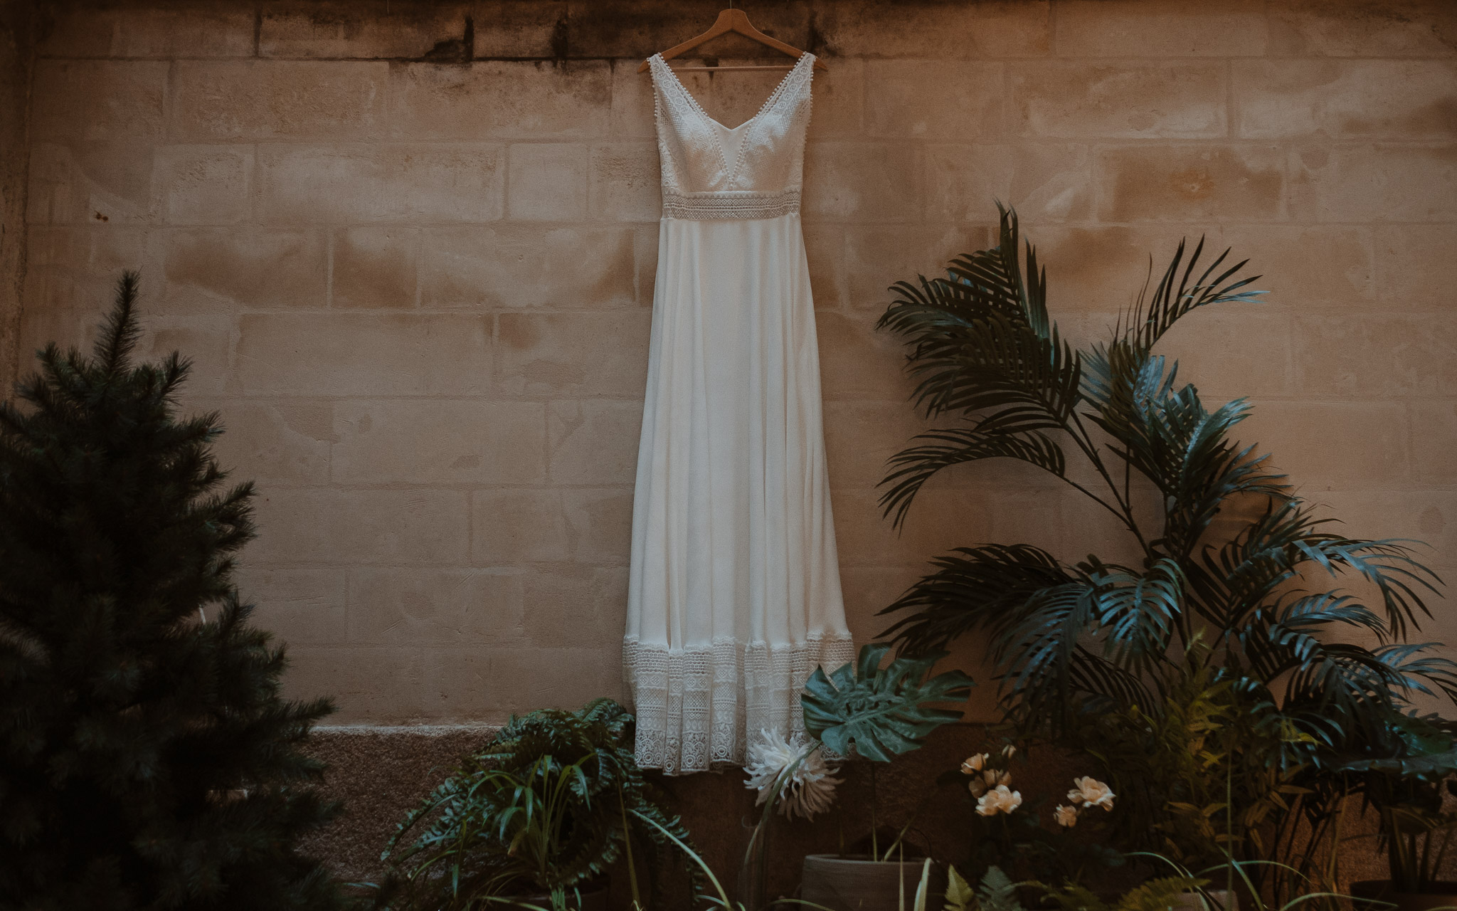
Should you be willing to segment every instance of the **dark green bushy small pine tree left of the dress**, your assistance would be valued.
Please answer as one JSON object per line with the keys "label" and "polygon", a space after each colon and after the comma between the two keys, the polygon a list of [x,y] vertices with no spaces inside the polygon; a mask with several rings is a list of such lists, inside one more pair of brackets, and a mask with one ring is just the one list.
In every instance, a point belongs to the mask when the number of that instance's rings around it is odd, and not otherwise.
{"label": "dark green bushy small pine tree left of the dress", "polygon": [[176,417],[188,361],[131,364],[136,299],[0,404],[0,910],[342,907],[294,847],[338,810],[299,751],[332,705],[278,695],[233,584],[252,485]]}

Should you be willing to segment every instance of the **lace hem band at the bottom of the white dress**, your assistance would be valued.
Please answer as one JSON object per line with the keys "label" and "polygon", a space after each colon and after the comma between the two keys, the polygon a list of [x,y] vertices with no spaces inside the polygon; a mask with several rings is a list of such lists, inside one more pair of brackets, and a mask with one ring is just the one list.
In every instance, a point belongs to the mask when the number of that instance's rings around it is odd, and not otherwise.
{"label": "lace hem band at the bottom of the white dress", "polygon": [[670,775],[743,765],[746,735],[804,730],[800,689],[814,668],[855,660],[849,636],[798,644],[740,643],[670,649],[622,641],[622,672],[637,714],[637,761]]}

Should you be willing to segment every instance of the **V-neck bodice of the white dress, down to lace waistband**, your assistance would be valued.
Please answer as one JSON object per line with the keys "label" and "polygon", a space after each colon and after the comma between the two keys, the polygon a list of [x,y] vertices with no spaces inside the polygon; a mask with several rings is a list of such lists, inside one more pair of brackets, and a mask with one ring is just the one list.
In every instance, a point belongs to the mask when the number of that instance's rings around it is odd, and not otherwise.
{"label": "V-neck bodice of the white dress, down to lace waistband", "polygon": [[775,219],[800,210],[814,55],[759,112],[730,130],[708,117],[660,54],[650,58],[663,166],[663,217]]}

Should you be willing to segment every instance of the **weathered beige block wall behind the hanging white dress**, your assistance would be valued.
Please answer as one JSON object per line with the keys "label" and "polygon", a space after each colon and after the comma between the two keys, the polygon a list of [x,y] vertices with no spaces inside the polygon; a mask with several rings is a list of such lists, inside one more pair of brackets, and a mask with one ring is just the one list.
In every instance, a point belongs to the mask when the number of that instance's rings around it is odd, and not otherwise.
{"label": "weathered beige block wall behind the hanging white dress", "polygon": [[[36,64],[25,348],[143,270],[154,350],[261,491],[243,584],[339,720],[500,720],[619,694],[659,208],[638,60],[717,1],[60,7]],[[1457,6],[746,3],[829,63],[806,155],[852,627],[943,548],[1116,555],[1016,466],[879,517],[918,427],[884,287],[1018,207],[1090,341],[1183,235],[1268,303],[1164,345],[1355,533],[1457,576]],[[471,26],[466,19],[471,19]],[[736,50],[726,45],[724,52]],[[423,58],[428,57],[430,61]],[[777,74],[694,87],[730,122]],[[1441,606],[1434,634],[1457,641]]]}

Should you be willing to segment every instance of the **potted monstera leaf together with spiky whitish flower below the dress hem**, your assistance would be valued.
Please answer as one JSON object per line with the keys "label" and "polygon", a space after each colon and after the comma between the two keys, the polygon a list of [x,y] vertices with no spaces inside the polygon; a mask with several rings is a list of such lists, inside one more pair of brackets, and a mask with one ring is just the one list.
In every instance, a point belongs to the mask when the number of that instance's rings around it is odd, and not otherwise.
{"label": "potted monstera leaf together with spiky whitish flower below the dress hem", "polygon": [[[750,838],[746,854],[746,904],[763,905],[765,840],[771,810],[779,806],[787,816],[812,816],[832,799],[830,778],[838,762],[861,761],[870,771],[870,851],[867,854],[810,854],[804,859],[801,899],[832,911],[879,911],[900,904],[919,876],[919,860],[905,860],[903,837],[908,821],[887,842],[880,838],[877,816],[876,770],[892,758],[921,746],[937,727],[962,717],[960,711],[931,707],[931,703],[959,703],[975,682],[960,670],[931,676],[941,653],[899,657],[886,666],[889,644],[861,647],[855,663],[833,673],[816,668],[800,703],[804,729],[812,739],[784,740],[765,732],[750,748],[747,786],[759,790],[763,818]],[[826,751],[830,758],[826,758]],[[833,759],[833,761],[832,761]]]}

